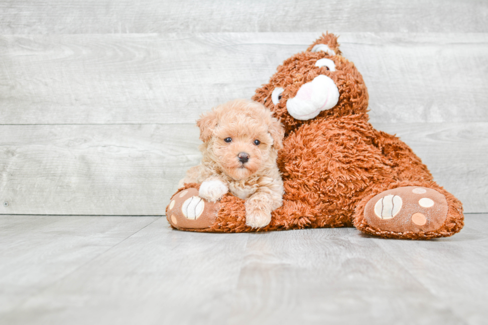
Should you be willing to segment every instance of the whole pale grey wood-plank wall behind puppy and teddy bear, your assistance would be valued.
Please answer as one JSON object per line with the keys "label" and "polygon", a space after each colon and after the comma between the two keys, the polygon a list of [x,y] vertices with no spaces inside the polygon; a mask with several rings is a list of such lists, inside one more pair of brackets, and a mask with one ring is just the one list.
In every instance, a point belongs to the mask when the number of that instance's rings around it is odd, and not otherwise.
{"label": "whole pale grey wood-plank wall behind puppy and teddy bear", "polygon": [[488,212],[488,1],[0,2],[0,214],[162,215],[194,121],[322,32],[371,122]]}

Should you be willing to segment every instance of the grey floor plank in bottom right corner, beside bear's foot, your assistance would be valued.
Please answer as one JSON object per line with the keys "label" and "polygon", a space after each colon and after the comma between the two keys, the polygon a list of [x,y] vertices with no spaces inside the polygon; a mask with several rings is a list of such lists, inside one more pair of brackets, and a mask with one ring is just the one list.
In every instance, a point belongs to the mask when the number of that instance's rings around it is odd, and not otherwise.
{"label": "grey floor plank in bottom right corner, beside bear's foot", "polygon": [[[451,240],[441,238],[415,245],[399,240],[374,241],[395,262],[407,268],[419,285],[443,297],[446,309],[452,311],[455,319],[464,320],[461,322],[464,324],[484,324],[488,317],[483,307],[488,303],[487,217],[466,216],[466,227]],[[433,251],[437,253],[432,254]],[[421,257],[426,254],[431,257]]]}

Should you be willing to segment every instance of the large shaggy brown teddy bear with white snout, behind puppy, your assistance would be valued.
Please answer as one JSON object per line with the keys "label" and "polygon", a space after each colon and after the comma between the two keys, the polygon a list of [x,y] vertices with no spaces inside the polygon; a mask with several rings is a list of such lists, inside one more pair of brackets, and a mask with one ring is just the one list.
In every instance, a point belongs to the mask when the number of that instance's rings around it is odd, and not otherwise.
{"label": "large shaggy brown teddy bear with white snout, behind puppy", "polygon": [[[244,200],[228,193],[217,203],[198,200],[198,184],[171,198],[172,227],[210,232],[356,226],[388,238],[429,239],[461,230],[461,202],[437,185],[399,138],[368,122],[363,77],[341,55],[337,37],[323,34],[278,67],[252,98],[285,128],[278,153],[283,205],[262,228],[245,224]],[[189,217],[190,216],[190,217]]]}

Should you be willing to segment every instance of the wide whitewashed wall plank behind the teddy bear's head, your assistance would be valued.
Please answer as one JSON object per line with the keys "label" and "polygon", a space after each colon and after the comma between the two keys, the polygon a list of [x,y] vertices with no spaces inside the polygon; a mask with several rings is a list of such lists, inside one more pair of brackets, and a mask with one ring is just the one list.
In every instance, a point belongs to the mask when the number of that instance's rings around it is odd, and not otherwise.
{"label": "wide whitewashed wall plank behind the teddy bear's head", "polygon": [[[0,35],[1,124],[194,123],[250,98],[320,33]],[[488,121],[488,33],[339,40],[372,121]]]}

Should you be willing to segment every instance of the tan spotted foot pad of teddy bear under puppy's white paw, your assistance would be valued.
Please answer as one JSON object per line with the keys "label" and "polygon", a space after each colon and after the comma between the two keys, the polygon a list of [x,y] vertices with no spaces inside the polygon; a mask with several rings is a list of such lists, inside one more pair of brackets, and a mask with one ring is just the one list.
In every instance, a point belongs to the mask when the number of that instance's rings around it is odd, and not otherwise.
{"label": "tan spotted foot pad of teddy bear under puppy's white paw", "polygon": [[217,218],[219,206],[219,202],[208,202],[199,196],[197,189],[189,188],[173,195],[166,218],[178,229],[208,228]]}

